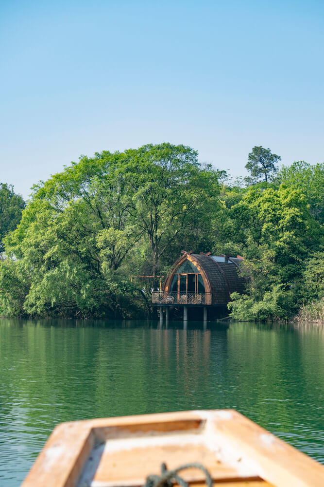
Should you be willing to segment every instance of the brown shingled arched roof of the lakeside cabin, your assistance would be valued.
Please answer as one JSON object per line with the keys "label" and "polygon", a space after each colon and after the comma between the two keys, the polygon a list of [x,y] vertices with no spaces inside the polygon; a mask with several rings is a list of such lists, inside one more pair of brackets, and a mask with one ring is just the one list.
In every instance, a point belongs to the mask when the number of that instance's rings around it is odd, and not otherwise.
{"label": "brown shingled arched roof of the lakeside cabin", "polygon": [[205,292],[212,293],[212,304],[226,304],[230,300],[230,294],[235,291],[242,294],[245,289],[245,281],[239,275],[239,266],[243,262],[240,258],[225,258],[204,254],[184,253],[178,259],[167,277],[163,291],[169,292],[171,281],[176,270],[186,261],[192,262],[202,275]]}

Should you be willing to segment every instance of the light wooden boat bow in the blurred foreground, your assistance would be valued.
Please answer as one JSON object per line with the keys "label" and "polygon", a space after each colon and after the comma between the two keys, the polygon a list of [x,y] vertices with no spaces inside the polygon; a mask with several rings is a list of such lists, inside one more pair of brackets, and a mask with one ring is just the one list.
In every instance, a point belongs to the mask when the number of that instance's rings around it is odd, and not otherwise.
{"label": "light wooden boat bow in the blurred foreground", "polygon": [[[220,410],[63,423],[21,487],[138,487],[162,463],[170,470],[196,462],[214,487],[324,486],[324,466],[238,412]],[[205,485],[199,468],[179,475]]]}

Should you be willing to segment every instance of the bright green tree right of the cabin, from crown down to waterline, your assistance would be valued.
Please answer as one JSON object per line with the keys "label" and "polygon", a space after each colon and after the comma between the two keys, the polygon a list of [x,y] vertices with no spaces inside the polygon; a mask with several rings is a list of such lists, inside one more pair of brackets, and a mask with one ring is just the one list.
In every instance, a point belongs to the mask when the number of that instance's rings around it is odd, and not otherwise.
{"label": "bright green tree right of the cabin, from crown down to waterline", "polygon": [[300,189],[252,187],[231,209],[233,233],[247,257],[247,292],[232,296],[233,318],[289,318],[305,295],[307,257],[323,242]]}

